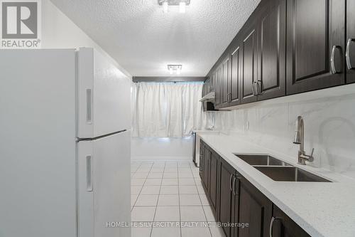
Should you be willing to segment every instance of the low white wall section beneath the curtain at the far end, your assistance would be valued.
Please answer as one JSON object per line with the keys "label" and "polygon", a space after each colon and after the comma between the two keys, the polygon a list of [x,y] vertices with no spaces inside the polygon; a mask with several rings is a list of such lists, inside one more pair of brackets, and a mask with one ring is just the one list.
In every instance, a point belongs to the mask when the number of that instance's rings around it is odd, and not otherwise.
{"label": "low white wall section beneath the curtain at the far end", "polygon": [[192,161],[192,138],[140,138],[131,139],[131,159],[136,160],[188,160]]}

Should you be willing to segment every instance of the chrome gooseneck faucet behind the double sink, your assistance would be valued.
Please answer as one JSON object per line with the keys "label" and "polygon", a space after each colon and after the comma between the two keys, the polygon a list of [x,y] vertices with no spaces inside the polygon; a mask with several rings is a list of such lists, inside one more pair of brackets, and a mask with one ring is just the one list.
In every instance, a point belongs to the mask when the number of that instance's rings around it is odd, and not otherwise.
{"label": "chrome gooseneck faucet behind the double sink", "polygon": [[301,116],[298,116],[296,120],[295,138],[293,138],[293,143],[300,144],[300,149],[298,150],[298,164],[306,164],[306,161],[313,162],[313,152],[315,151],[315,148],[312,149],[312,154],[306,154],[305,125],[303,124],[303,118]]}

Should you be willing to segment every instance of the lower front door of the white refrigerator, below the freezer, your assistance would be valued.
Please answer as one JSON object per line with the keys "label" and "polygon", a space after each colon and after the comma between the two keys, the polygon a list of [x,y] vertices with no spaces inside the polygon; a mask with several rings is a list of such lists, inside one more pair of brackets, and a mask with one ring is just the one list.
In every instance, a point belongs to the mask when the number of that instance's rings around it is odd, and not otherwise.
{"label": "lower front door of the white refrigerator, below the freezer", "polygon": [[78,143],[80,237],[126,237],[131,221],[130,132]]}

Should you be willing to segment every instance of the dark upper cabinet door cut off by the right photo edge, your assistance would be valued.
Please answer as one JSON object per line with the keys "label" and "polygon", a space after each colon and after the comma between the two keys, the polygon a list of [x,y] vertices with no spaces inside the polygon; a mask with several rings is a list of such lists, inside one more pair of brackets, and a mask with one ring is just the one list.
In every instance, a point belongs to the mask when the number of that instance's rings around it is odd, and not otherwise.
{"label": "dark upper cabinet door cut off by the right photo edge", "polygon": [[346,1],[346,83],[355,82],[355,0]]}

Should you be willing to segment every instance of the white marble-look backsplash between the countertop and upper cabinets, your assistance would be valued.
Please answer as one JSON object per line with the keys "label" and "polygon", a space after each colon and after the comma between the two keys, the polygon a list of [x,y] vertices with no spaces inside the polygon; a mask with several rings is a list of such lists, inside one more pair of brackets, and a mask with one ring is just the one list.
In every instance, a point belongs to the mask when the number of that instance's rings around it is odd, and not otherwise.
{"label": "white marble-look backsplash between the countertop and upper cabinets", "polygon": [[242,132],[297,162],[299,146],[292,139],[299,115],[305,122],[305,151],[315,148],[310,165],[355,178],[355,94],[216,112],[215,129]]}

